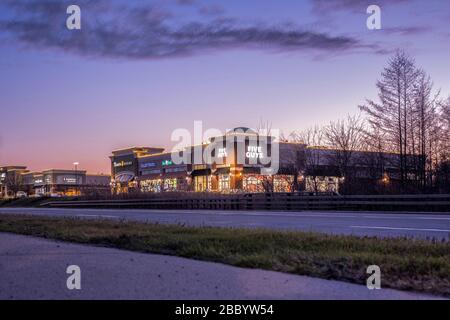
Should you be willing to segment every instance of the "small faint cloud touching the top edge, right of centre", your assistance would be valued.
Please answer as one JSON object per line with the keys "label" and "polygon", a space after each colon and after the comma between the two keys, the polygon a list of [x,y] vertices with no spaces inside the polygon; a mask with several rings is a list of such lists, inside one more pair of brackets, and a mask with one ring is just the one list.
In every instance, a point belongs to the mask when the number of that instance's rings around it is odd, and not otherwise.
{"label": "small faint cloud touching the top edge, right of centre", "polygon": [[408,3],[412,0],[311,0],[315,12],[352,11],[366,13],[367,7],[376,4],[380,7]]}

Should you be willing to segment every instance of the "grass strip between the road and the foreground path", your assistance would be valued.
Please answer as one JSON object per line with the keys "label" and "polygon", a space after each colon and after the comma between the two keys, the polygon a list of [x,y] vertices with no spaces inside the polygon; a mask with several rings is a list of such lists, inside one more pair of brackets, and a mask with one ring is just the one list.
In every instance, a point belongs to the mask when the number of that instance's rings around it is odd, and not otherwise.
{"label": "grass strip between the road and the foreground path", "polygon": [[450,296],[450,243],[235,228],[1,215],[0,231]]}

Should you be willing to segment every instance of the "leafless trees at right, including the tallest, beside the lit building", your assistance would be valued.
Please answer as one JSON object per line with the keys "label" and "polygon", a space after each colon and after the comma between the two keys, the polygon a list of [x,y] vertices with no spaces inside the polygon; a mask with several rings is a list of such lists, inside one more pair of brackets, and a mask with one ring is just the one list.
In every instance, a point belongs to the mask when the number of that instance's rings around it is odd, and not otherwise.
{"label": "leafless trees at right, including the tallest, beside the lit building", "polygon": [[[393,193],[450,192],[450,97],[443,98],[404,51],[389,59],[376,87],[378,98],[358,106],[358,115],[293,132],[286,139],[330,150],[327,157],[333,158],[350,193],[361,162],[366,176],[377,178],[384,191],[395,181]],[[313,179],[323,156],[308,152],[302,159]]]}

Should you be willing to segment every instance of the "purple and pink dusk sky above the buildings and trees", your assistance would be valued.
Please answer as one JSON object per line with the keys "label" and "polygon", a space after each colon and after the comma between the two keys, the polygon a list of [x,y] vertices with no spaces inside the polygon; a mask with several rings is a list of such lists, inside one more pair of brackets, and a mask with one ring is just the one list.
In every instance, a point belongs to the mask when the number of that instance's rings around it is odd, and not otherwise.
{"label": "purple and pink dusk sky above the buildings and trees", "polygon": [[[81,31],[65,28],[69,4]],[[447,0],[2,0],[0,164],[108,173],[111,150],[169,148],[195,120],[326,124],[376,98],[398,48],[450,94]]]}

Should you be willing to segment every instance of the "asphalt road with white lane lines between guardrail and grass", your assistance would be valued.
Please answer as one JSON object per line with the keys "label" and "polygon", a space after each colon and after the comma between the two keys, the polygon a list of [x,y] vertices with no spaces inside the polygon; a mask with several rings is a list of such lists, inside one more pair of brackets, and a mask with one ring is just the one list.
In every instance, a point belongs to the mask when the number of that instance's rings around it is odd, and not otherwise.
{"label": "asphalt road with white lane lines between guardrail and grass", "polygon": [[374,212],[0,208],[0,214],[129,219],[194,226],[272,228],[358,236],[450,238],[450,215]]}

